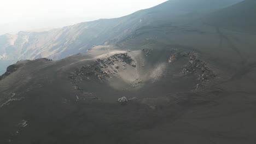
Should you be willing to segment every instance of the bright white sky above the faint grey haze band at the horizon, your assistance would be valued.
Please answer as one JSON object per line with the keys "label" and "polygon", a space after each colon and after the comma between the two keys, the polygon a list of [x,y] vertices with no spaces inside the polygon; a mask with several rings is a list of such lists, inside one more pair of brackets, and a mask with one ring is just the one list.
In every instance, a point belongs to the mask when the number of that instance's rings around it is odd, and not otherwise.
{"label": "bright white sky above the faint grey haze band at the horizon", "polygon": [[153,7],[166,0],[2,0],[1,23],[21,19],[63,17],[117,17]]}

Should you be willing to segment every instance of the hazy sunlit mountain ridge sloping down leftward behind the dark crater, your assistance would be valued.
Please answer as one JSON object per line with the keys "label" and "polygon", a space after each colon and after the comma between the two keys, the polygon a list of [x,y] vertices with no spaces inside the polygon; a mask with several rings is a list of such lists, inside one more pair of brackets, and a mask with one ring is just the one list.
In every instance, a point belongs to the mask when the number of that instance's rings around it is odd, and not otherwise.
{"label": "hazy sunlit mountain ridge sloping down leftward behind the dark crater", "polygon": [[[41,32],[19,32],[0,36],[0,64],[24,59],[47,57],[61,59],[84,53],[94,45],[108,45],[123,40],[136,29],[153,22],[174,21],[173,18],[193,11],[209,11],[241,0],[167,1],[117,19],[101,19]],[[6,67],[1,65],[0,73]]]}

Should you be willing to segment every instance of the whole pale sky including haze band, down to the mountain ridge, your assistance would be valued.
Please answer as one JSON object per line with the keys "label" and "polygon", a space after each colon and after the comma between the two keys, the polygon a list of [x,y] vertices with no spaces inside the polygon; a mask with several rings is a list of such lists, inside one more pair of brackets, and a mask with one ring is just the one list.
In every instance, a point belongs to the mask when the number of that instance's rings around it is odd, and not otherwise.
{"label": "whole pale sky including haze band, down to the mountain ridge", "polygon": [[0,5],[0,35],[125,16],[165,1],[3,1]]}

